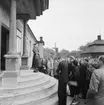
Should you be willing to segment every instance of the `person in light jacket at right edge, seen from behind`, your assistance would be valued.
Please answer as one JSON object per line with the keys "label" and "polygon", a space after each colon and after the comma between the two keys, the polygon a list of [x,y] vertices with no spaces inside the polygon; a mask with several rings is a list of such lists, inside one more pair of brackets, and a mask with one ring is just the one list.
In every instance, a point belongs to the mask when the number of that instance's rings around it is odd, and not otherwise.
{"label": "person in light jacket at right edge, seen from behind", "polygon": [[99,57],[100,68],[93,71],[89,90],[87,92],[87,105],[104,105],[104,56]]}

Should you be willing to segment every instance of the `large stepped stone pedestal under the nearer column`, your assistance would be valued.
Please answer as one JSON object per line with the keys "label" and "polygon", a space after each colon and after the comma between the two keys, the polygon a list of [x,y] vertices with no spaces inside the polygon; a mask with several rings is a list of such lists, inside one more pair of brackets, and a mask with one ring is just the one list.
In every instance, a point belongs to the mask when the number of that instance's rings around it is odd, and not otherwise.
{"label": "large stepped stone pedestal under the nearer column", "polygon": [[6,71],[1,74],[2,87],[14,88],[18,84],[19,77],[19,55],[5,55]]}

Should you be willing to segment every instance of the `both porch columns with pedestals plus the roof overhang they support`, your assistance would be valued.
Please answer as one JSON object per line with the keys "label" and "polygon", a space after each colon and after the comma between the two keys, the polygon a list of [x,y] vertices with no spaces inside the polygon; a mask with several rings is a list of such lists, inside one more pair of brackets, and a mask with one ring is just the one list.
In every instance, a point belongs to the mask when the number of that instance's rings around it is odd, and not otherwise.
{"label": "both porch columns with pedestals plus the roof overhang they support", "polygon": [[[5,1],[5,2],[4,2]],[[2,73],[2,85],[4,87],[11,87],[7,82],[11,82],[12,86],[18,83],[19,69],[28,69],[28,52],[27,52],[27,35],[26,24],[29,19],[36,19],[42,12],[48,9],[48,0],[4,0],[2,3],[10,7],[10,34],[9,34],[9,51],[5,55],[6,71]],[[23,54],[22,57],[17,52],[16,40],[16,20],[23,21]],[[19,65],[19,59],[22,59],[22,65]],[[15,85],[14,85],[15,84]]]}

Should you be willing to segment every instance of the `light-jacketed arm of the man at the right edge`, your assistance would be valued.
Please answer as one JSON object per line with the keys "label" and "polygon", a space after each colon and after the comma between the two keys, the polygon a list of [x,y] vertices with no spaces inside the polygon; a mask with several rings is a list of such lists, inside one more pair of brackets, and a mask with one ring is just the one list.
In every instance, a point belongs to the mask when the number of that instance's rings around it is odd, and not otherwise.
{"label": "light-jacketed arm of the man at the right edge", "polygon": [[95,70],[91,76],[89,90],[87,92],[87,99],[93,98],[99,89],[100,77],[97,71]]}

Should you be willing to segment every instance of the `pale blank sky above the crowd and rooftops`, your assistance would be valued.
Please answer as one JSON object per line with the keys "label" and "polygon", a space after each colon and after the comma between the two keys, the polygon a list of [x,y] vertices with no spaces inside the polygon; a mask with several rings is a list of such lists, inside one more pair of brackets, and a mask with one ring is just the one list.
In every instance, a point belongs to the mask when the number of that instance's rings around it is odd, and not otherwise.
{"label": "pale blank sky above the crowd and rooftops", "polygon": [[49,9],[28,22],[45,48],[77,50],[101,35],[104,39],[104,0],[50,0]]}

